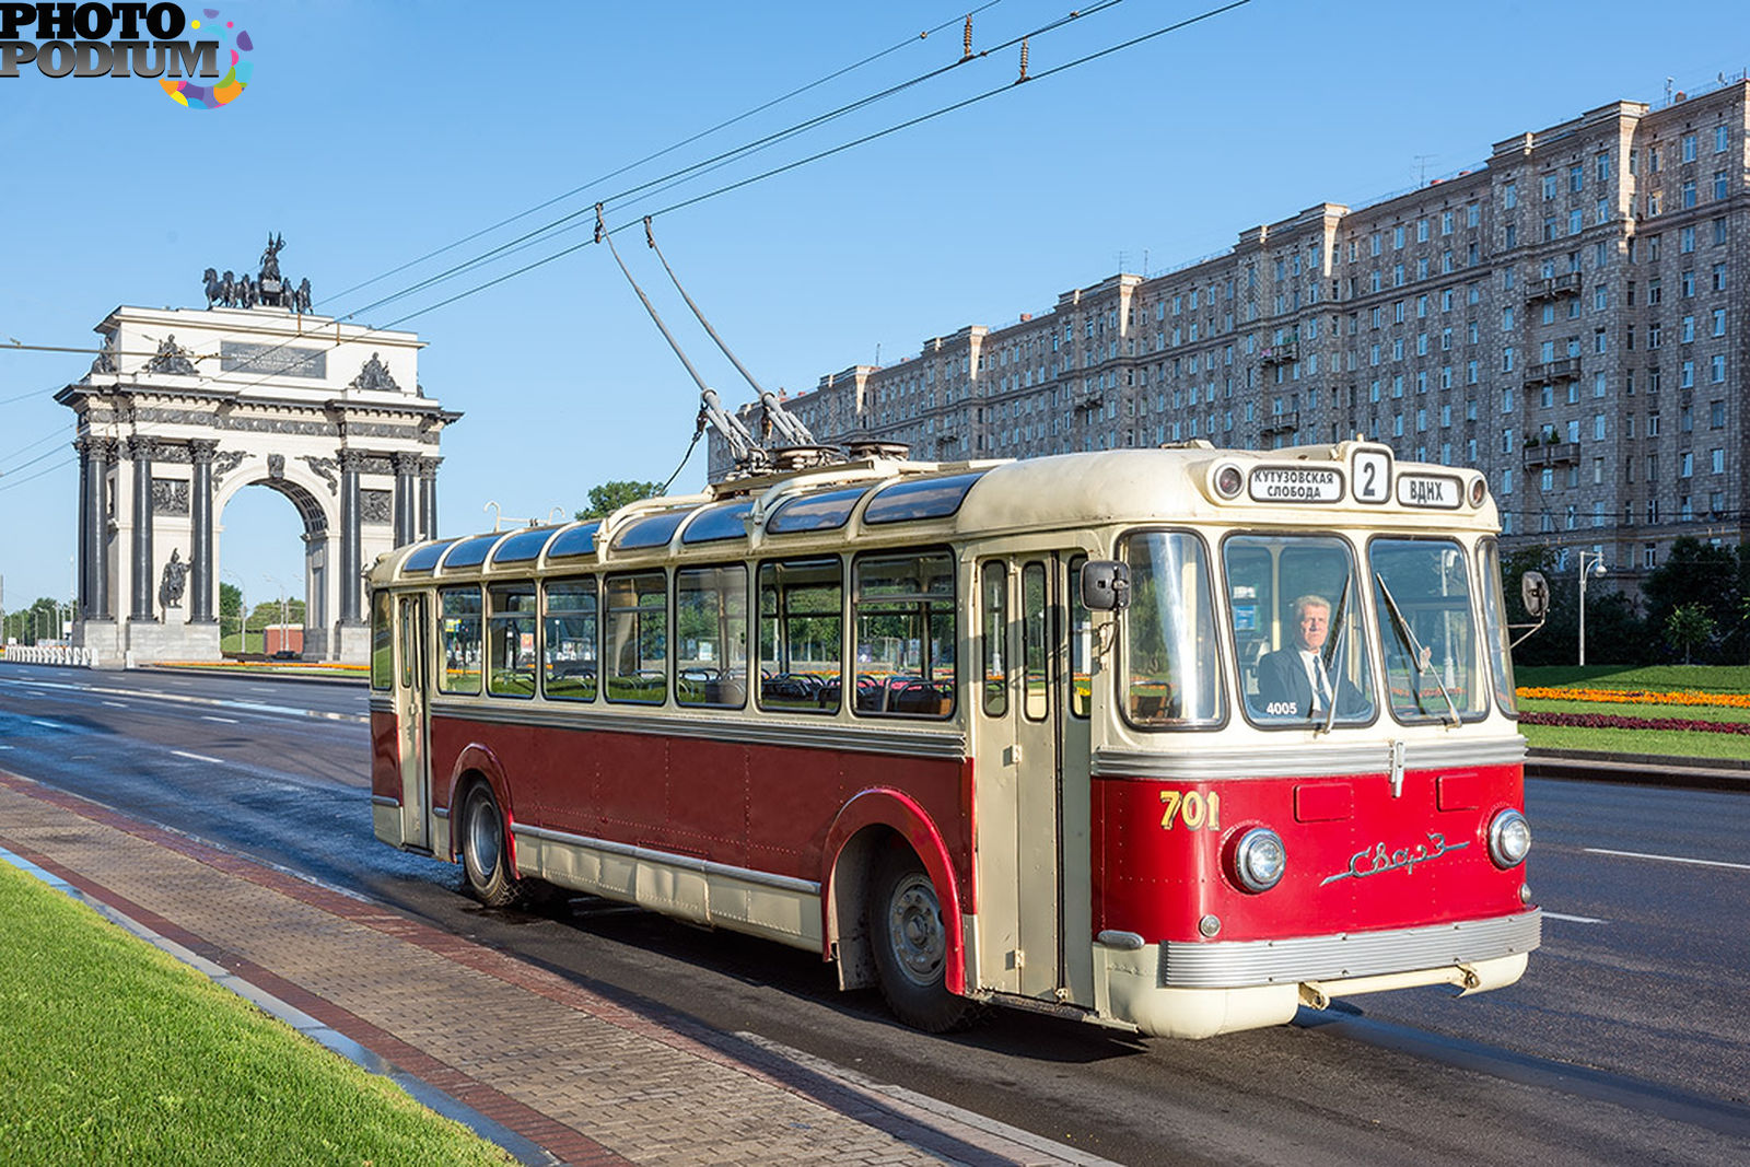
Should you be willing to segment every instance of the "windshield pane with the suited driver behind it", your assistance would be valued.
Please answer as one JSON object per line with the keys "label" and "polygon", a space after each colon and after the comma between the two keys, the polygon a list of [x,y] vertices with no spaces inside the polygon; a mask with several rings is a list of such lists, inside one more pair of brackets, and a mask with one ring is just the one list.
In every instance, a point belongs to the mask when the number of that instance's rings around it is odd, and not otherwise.
{"label": "windshield pane with the suited driver behind it", "polygon": [[1265,728],[1370,723],[1372,656],[1349,544],[1230,535],[1222,553],[1246,717]]}

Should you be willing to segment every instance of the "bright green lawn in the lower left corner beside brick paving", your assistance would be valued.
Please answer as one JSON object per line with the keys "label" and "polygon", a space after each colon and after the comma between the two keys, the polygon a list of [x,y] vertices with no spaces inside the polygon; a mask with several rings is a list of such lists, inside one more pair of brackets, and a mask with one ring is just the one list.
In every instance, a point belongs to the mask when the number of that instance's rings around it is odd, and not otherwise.
{"label": "bright green lawn in the lower left corner beside brick paving", "polygon": [[0,863],[0,1162],[506,1164]]}

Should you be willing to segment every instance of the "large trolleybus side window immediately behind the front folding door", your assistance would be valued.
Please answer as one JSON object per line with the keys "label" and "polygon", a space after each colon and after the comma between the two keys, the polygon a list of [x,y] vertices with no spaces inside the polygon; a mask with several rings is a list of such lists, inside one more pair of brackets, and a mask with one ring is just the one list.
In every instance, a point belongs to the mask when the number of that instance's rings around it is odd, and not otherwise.
{"label": "large trolleybus side window immediately behind the front folding door", "polygon": [[954,558],[870,555],[854,563],[856,698],[875,717],[954,716]]}

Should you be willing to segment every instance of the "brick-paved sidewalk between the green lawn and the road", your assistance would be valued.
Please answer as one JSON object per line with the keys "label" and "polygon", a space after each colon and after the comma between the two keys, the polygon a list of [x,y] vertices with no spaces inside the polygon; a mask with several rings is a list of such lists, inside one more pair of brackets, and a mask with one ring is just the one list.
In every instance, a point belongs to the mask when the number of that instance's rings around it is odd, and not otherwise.
{"label": "brick-paved sidewalk between the green lawn and the road", "polygon": [[1102,1162],[4,772],[0,849],[525,1162]]}

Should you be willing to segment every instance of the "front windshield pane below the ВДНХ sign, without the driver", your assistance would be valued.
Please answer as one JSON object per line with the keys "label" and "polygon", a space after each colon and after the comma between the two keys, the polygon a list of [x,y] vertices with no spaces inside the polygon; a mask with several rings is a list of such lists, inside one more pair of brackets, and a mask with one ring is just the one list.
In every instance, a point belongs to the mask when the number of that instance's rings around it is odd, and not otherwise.
{"label": "front windshield pane below the \u0412\u0414\u041d\u0425 sign, without the driver", "polygon": [[1488,712],[1465,549],[1451,539],[1374,539],[1367,565],[1391,716],[1452,721]]}

